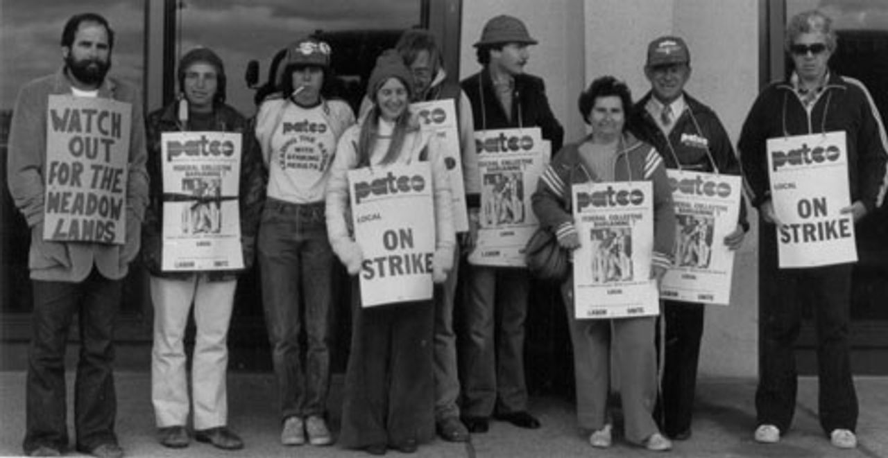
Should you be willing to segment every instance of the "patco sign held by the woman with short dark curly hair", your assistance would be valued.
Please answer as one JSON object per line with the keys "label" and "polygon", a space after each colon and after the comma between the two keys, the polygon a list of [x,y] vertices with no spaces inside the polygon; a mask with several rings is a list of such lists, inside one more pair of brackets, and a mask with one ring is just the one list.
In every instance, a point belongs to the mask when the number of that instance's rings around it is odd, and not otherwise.
{"label": "patco sign held by the woman with short dark curly hair", "polygon": [[657,315],[660,296],[651,279],[654,188],[650,181],[574,185],[577,319]]}

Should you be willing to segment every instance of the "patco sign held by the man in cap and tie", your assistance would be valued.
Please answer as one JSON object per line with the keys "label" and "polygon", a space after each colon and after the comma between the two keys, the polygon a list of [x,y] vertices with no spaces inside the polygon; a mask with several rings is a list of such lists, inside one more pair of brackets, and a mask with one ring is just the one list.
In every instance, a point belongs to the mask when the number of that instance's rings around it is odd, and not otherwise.
{"label": "patco sign held by the man in cap and tie", "polygon": [[734,252],[725,235],[737,228],[741,178],[666,170],[675,202],[675,261],[663,276],[660,296],[727,305]]}

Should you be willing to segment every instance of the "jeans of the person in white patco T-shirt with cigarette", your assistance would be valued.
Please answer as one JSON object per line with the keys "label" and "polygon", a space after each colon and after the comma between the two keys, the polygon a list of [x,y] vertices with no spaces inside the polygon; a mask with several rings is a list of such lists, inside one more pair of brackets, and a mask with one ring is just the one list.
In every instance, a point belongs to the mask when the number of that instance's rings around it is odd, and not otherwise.
{"label": "jeans of the person in white patco T-shirt with cigarette", "polygon": [[[323,415],[335,274],[324,202],[300,205],[269,198],[258,248],[281,418]],[[300,344],[302,333],[306,348]]]}

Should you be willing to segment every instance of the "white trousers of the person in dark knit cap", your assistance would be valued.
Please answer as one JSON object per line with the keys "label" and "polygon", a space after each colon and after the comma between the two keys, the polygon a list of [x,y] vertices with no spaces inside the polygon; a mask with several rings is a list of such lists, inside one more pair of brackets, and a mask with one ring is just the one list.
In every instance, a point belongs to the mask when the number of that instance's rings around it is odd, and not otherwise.
{"label": "white trousers of the person in dark knit cap", "polygon": [[225,426],[228,418],[226,368],[228,323],[237,280],[208,281],[206,275],[188,280],[151,277],[155,305],[155,343],[151,351],[151,401],[159,428],[186,425],[188,383],[183,345],[188,314],[194,301],[194,429]]}

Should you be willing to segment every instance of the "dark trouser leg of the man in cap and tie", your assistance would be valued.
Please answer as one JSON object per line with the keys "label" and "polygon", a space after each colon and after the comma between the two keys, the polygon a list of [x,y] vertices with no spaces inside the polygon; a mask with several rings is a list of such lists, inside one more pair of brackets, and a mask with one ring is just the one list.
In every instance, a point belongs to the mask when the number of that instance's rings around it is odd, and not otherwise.
{"label": "dark trouser leg of the man in cap and tie", "polygon": [[[663,301],[662,306],[660,320],[666,324],[666,352],[662,357],[662,384],[654,418],[664,434],[675,437],[691,429],[705,309],[703,304],[676,301]],[[658,351],[662,351],[661,328],[658,321]]]}

